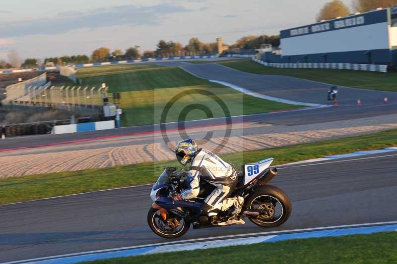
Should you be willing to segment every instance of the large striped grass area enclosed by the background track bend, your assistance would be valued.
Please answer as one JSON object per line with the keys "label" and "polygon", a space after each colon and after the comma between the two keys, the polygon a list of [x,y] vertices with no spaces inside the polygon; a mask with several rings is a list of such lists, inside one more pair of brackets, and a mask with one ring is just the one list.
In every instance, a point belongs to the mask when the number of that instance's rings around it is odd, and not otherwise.
{"label": "large striped grass area enclosed by the background track bend", "polygon": [[[120,107],[123,126],[153,124],[160,122],[165,105],[175,95],[192,90],[203,89],[216,94],[219,99],[204,95],[189,95],[176,102],[167,116],[167,122],[179,120],[182,109],[191,104],[202,104],[212,110],[213,117],[224,116],[218,105],[223,101],[231,115],[253,114],[277,111],[287,108],[300,108],[262,100],[237,92],[217,83],[195,77],[179,67],[162,67],[154,63],[101,66],[78,70],[83,85],[100,86],[106,83],[109,92],[121,92]],[[211,116],[210,116],[211,117]],[[186,120],[203,119],[207,115],[192,111]]]}

